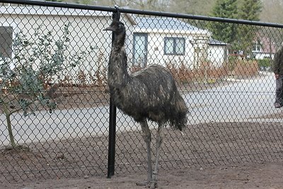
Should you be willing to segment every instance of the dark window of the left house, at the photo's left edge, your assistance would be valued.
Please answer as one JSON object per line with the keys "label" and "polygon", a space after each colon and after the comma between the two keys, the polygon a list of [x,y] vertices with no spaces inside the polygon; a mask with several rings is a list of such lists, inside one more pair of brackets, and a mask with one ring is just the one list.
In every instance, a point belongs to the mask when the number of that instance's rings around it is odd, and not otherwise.
{"label": "dark window of the left house, at the photo's left edge", "polygon": [[12,57],[13,28],[0,26],[0,55]]}

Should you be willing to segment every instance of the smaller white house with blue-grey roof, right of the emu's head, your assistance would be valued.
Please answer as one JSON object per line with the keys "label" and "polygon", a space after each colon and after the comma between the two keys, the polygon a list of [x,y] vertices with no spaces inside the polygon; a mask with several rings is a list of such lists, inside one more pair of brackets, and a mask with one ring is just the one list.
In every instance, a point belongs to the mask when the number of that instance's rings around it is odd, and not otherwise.
{"label": "smaller white house with blue-grey roof, right of the emu's head", "polygon": [[197,69],[207,60],[221,67],[226,59],[226,44],[211,40],[209,30],[177,18],[138,17],[136,22],[132,63],[137,67],[156,63]]}

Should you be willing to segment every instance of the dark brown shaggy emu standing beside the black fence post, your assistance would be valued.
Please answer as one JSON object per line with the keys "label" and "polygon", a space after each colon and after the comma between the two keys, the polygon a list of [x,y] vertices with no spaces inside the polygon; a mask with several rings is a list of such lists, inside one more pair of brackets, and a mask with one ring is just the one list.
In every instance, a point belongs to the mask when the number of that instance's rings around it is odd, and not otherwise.
{"label": "dark brown shaggy emu standing beside the black fence post", "polygon": [[[122,22],[113,21],[104,30],[111,30],[115,37],[108,64],[108,85],[112,102],[139,122],[146,143],[147,180],[137,185],[156,188],[163,127],[168,122],[182,130],[187,124],[187,105],[178,92],[172,74],[161,65],[152,64],[134,74],[128,74],[124,47],[126,30]],[[151,132],[147,120],[158,123],[154,171],[151,163]]]}

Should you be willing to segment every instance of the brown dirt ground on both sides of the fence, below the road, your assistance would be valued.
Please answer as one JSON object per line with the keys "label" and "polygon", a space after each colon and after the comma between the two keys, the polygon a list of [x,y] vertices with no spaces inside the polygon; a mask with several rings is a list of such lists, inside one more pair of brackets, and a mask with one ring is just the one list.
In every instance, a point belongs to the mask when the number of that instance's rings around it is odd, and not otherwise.
{"label": "brown dirt ground on both sides of the fence, below the road", "polygon": [[[117,134],[110,179],[107,141],[87,137],[1,149],[0,188],[144,188],[135,185],[146,179],[141,133]],[[282,141],[279,122],[205,123],[183,133],[167,128],[158,188],[283,188]]]}

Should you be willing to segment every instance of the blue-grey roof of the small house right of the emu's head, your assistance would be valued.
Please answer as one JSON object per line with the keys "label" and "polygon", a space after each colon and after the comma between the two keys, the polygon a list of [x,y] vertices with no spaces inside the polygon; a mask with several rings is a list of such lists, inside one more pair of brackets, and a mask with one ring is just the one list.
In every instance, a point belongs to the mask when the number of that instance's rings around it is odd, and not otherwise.
{"label": "blue-grey roof of the small house right of the emu's head", "polygon": [[137,17],[135,19],[137,25],[135,25],[135,29],[146,30],[148,32],[183,32],[183,33],[202,33],[209,34],[208,30],[202,30],[197,28],[189,23],[185,23],[184,21],[180,21],[177,18],[170,17]]}

